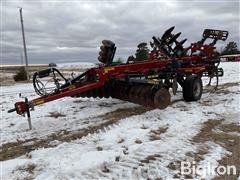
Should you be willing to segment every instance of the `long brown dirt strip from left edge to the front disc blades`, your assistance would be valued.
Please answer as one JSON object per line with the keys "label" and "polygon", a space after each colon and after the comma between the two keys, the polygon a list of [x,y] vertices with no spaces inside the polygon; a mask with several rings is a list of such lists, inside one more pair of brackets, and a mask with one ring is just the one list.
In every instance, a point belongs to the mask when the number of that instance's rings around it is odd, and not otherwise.
{"label": "long brown dirt strip from left edge to the front disc blades", "polygon": [[[106,113],[98,116],[102,122],[87,128],[78,129],[75,131],[62,130],[47,136],[44,139],[29,139],[25,141],[17,141],[6,143],[1,146],[0,161],[13,159],[29,153],[38,148],[47,148],[57,146],[60,142],[70,142],[72,140],[80,139],[88,134],[93,134],[99,130],[106,130],[106,127],[117,123],[119,120],[127,118],[129,116],[139,115],[151,110],[143,106],[134,108],[118,109],[113,112]],[[59,143],[51,143],[53,141],[59,141]]]}

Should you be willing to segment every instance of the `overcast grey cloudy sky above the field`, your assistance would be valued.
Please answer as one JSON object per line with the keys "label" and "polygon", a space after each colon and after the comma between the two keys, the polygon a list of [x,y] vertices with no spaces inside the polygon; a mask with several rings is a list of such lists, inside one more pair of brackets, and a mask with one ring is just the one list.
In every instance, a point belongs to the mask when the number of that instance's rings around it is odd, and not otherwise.
{"label": "overcast grey cloudy sky above the field", "polygon": [[118,47],[116,56],[134,54],[139,42],[161,36],[169,27],[186,43],[201,39],[205,28],[228,30],[223,48],[239,46],[239,0],[209,1],[11,1],[2,0],[2,63],[21,62],[23,18],[29,63],[97,62],[101,40]]}

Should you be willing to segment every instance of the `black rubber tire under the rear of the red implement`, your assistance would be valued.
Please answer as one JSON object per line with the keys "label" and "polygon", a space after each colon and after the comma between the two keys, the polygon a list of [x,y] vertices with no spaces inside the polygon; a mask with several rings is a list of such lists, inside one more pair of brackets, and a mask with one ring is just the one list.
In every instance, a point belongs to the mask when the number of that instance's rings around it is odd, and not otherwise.
{"label": "black rubber tire under the rear of the red implement", "polygon": [[203,91],[202,79],[197,75],[188,76],[183,83],[183,98],[185,101],[201,99]]}

